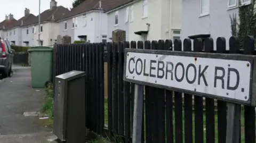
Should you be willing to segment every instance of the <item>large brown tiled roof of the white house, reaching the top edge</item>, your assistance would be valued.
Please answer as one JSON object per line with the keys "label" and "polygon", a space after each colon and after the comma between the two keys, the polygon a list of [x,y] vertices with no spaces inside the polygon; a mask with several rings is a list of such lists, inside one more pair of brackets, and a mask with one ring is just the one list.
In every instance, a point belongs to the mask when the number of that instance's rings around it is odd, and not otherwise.
{"label": "large brown tiled roof of the white house, reaching the top edge", "polygon": [[[110,7],[113,6],[113,4],[119,2],[119,1],[127,1],[127,0],[101,0],[101,9],[100,7],[100,0],[86,0],[83,3],[79,4],[77,7],[72,9],[70,11],[70,14],[68,14],[65,18],[69,18],[71,16],[75,16],[78,14],[82,14],[88,11],[92,10],[108,10]],[[131,0],[129,0],[131,1]]]}

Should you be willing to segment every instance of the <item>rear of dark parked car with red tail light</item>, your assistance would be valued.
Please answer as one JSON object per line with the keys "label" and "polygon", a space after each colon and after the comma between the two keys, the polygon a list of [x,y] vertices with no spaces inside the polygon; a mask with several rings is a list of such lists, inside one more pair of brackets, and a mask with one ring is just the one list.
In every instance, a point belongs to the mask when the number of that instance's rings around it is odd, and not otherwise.
{"label": "rear of dark parked car with red tail light", "polygon": [[10,77],[14,50],[7,39],[0,37],[0,74],[2,78]]}

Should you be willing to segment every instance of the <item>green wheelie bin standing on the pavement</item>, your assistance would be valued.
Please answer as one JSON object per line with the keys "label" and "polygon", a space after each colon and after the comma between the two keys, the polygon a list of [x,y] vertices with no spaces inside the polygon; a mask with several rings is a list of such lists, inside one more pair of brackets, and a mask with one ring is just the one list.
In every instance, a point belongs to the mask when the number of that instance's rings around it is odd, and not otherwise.
{"label": "green wheelie bin standing on the pavement", "polygon": [[44,88],[52,80],[53,48],[46,46],[28,49],[32,88]]}

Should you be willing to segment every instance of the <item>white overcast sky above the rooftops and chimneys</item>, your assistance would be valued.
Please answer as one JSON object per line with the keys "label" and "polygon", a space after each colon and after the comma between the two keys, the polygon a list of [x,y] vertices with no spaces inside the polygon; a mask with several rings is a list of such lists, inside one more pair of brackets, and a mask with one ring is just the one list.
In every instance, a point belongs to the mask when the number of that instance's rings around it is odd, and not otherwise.
{"label": "white overcast sky above the rooftops and chimneys", "polygon": [[[55,0],[57,5],[70,8],[73,0]],[[47,9],[50,9],[51,0],[41,0],[41,13]],[[24,16],[24,10],[28,8],[30,13],[38,15],[39,13],[39,0],[7,0],[0,4],[0,21],[5,19],[5,14],[13,14],[16,20]]]}

